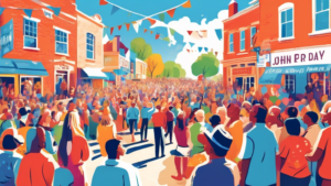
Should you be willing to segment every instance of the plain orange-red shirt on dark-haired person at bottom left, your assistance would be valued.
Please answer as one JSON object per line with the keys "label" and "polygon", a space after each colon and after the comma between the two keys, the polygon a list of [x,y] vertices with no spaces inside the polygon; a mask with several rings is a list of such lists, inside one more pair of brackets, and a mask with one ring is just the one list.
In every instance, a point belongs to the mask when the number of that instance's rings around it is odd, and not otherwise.
{"label": "plain orange-red shirt on dark-haired person at bottom left", "polygon": [[54,164],[41,153],[26,154],[20,164],[17,186],[51,186]]}

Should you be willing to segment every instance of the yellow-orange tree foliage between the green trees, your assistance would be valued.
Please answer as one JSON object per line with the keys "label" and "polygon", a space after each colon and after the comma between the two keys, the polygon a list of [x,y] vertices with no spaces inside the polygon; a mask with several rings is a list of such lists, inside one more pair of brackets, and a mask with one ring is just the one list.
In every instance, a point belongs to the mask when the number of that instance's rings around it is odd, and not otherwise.
{"label": "yellow-orange tree foliage between the green trees", "polygon": [[147,59],[147,76],[157,77],[159,76],[163,69],[164,64],[162,61],[162,56],[160,54],[152,54]]}

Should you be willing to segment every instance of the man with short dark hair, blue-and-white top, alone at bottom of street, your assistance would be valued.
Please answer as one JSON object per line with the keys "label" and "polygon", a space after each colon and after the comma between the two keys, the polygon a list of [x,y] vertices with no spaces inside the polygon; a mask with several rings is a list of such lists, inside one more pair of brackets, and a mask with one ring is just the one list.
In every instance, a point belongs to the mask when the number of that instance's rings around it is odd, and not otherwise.
{"label": "man with short dark hair, blue-and-white top, alone at bottom of street", "polygon": [[113,139],[106,142],[108,160],[98,166],[92,178],[92,186],[141,186],[140,175],[131,164],[119,160],[125,155],[120,141]]}

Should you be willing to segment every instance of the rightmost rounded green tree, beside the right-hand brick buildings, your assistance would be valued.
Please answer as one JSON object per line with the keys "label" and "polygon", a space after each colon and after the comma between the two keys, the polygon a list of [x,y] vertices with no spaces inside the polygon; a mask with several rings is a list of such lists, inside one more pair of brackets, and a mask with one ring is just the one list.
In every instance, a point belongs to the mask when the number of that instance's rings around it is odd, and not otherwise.
{"label": "rightmost rounded green tree, beside the right-hand brick buildings", "polygon": [[194,76],[212,77],[218,73],[220,62],[213,53],[202,54],[192,64],[191,69]]}

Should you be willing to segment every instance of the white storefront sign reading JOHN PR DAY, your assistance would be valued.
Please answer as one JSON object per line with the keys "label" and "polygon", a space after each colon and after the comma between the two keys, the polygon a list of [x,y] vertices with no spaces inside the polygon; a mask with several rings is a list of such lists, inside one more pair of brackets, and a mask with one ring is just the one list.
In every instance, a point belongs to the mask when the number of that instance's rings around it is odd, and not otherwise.
{"label": "white storefront sign reading JOHN PR DAY", "polygon": [[273,53],[271,67],[330,64],[331,47]]}

